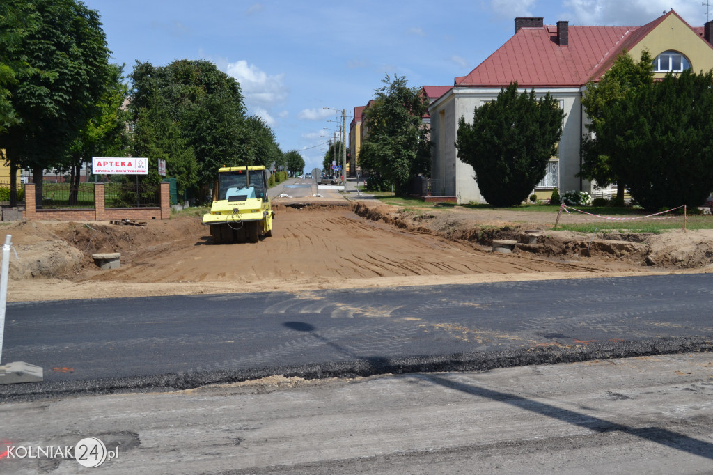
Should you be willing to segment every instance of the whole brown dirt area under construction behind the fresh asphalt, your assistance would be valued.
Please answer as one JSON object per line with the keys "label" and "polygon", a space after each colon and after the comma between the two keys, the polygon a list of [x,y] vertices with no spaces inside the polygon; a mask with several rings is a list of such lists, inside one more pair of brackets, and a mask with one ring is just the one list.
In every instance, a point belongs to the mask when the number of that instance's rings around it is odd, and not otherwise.
{"label": "whole brown dirt area under construction behind the fresh asphalt", "polygon": [[[277,205],[273,236],[213,245],[198,216],[145,227],[108,222],[2,225],[11,255],[9,300],[535,280],[697,270],[713,263],[713,230],[662,235],[551,231],[552,213],[418,213],[377,203]],[[513,254],[493,240],[518,241]],[[98,270],[91,255],[120,252]]]}

